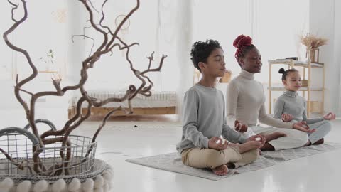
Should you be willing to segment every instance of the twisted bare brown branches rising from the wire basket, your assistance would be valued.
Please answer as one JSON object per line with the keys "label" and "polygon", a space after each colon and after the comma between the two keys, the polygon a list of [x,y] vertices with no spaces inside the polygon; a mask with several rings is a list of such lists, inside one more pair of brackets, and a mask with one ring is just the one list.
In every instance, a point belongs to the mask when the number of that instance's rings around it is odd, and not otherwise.
{"label": "twisted bare brown branches rising from the wire basket", "polygon": [[[15,90],[15,95],[18,100],[18,102],[21,103],[23,106],[23,109],[26,112],[26,118],[28,119],[28,123],[30,124],[30,127],[32,129],[33,134],[38,138],[39,140],[39,145],[38,146],[33,146],[33,170],[32,168],[29,167],[31,171],[34,171],[36,174],[44,175],[44,176],[55,176],[55,175],[60,175],[63,174],[70,174],[70,169],[72,166],[75,166],[75,164],[71,164],[70,160],[72,159],[72,151],[71,151],[71,142],[70,142],[70,134],[77,129],[77,127],[80,127],[80,124],[84,122],[88,117],[91,115],[91,110],[92,107],[102,107],[103,105],[108,104],[109,102],[123,102],[124,100],[128,101],[128,110],[123,109],[122,107],[118,107],[114,110],[109,111],[105,116],[104,119],[102,120],[102,124],[99,125],[97,132],[94,133],[94,136],[92,137],[92,143],[96,142],[97,136],[99,135],[99,132],[103,129],[105,124],[107,123],[107,120],[109,117],[114,114],[114,112],[117,111],[124,111],[126,114],[131,114],[133,113],[133,106],[131,105],[131,100],[134,99],[134,97],[138,94],[144,95],[146,97],[151,96],[151,87],[153,86],[153,82],[151,81],[150,78],[146,75],[149,72],[154,72],[154,71],[159,71],[162,68],[163,65],[163,60],[166,58],[166,55],[163,55],[161,58],[161,61],[158,65],[158,68],[151,68],[151,63],[153,62],[153,54],[151,53],[151,56],[148,57],[148,68],[142,72],[139,70],[136,70],[134,68],[133,62],[129,58],[129,53],[130,53],[130,48],[132,46],[139,45],[139,43],[126,43],[124,42],[117,34],[121,30],[121,27],[124,25],[124,23],[129,19],[129,17],[134,14],[134,12],[139,9],[140,1],[136,0],[136,6],[129,11],[129,14],[127,14],[124,19],[119,23],[117,28],[114,30],[109,28],[109,26],[104,26],[103,22],[105,19],[105,14],[104,14],[104,5],[107,3],[107,0],[105,0],[102,4],[102,17],[99,19],[99,21],[94,21],[94,11],[96,11],[98,14],[99,12],[94,8],[94,5],[90,0],[78,0],[81,2],[83,6],[85,6],[85,9],[87,10],[87,13],[89,14],[89,22],[90,26],[84,27],[83,28],[83,34],[82,35],[75,35],[72,36],[71,40],[74,42],[75,37],[83,37],[83,38],[89,38],[92,40],[92,47],[90,50],[90,54],[85,58],[85,60],[82,61],[82,68],[80,70],[80,81],[75,83],[75,85],[67,85],[65,87],[60,86],[61,78],[54,77],[52,78],[52,83],[53,87],[55,88],[55,91],[42,91],[42,92],[28,92],[27,90],[23,90],[22,86],[25,85],[28,82],[31,82],[36,76],[38,75],[38,70],[36,69],[33,61],[31,60],[31,56],[28,54],[28,51],[19,48],[18,46],[13,45],[9,41],[9,34],[11,34],[13,31],[18,28],[21,23],[26,21],[27,16],[28,16],[28,11],[27,11],[27,6],[26,6],[26,1],[25,0],[20,0],[21,4],[23,6],[23,17],[20,20],[16,20],[14,18],[14,11],[18,9],[18,5],[13,4],[10,0],[9,4],[12,6],[12,21],[14,22],[11,28],[9,28],[7,31],[4,33],[4,41],[6,42],[6,45],[9,46],[12,50],[15,50],[21,54],[24,55],[26,58],[28,65],[32,69],[31,75],[28,75],[28,77],[24,78],[23,80],[18,80],[18,75],[16,76],[16,85],[14,87]],[[94,10],[94,11],[93,11]],[[99,24],[96,24],[99,23]],[[102,43],[94,50],[95,46],[95,40],[94,38],[91,38],[90,36],[87,36],[85,34],[85,30],[88,28],[94,28],[94,30],[97,33],[102,34],[104,39],[102,40]],[[136,78],[139,78],[141,83],[139,85],[129,85],[128,90],[126,90],[126,93],[123,97],[110,97],[106,100],[98,100],[97,98],[90,97],[88,95],[87,91],[85,90],[85,82],[87,82],[88,79],[88,71],[89,69],[94,67],[94,64],[97,63],[97,61],[102,57],[102,55],[105,55],[107,53],[111,53],[115,47],[118,47],[119,50],[126,50],[126,60],[129,63],[129,67],[136,76]],[[149,85],[147,85],[146,80],[148,80]],[[137,87],[137,88],[136,88]],[[77,101],[76,105],[76,112],[71,117],[63,127],[59,130],[53,130],[50,129],[48,131],[43,132],[43,134],[39,134],[38,132],[38,127],[36,126],[35,122],[35,114],[36,114],[36,100],[38,100],[39,97],[45,97],[45,96],[63,96],[65,95],[65,92],[70,91],[70,90],[80,90],[81,97]],[[31,99],[29,102],[26,102],[23,97],[21,96],[21,93],[25,92],[29,95],[31,95]],[[87,110],[85,114],[82,114],[82,106],[87,105]],[[52,138],[50,138],[52,137]],[[55,144],[55,143],[61,143],[60,146],[60,158],[62,159],[62,162],[60,164],[54,164],[53,166],[46,167],[46,165],[41,161],[40,159],[40,154],[44,151],[45,145],[48,144]],[[87,151],[87,154],[85,157],[87,157],[92,149],[89,149]],[[0,151],[5,154],[6,156],[6,151],[0,149]],[[66,153],[65,153],[66,152]],[[23,164],[18,164],[13,159],[11,159],[11,156],[7,154],[6,156],[7,159],[9,159],[13,164],[16,166],[23,168]],[[83,159],[82,161],[86,161],[87,158]],[[81,161],[81,162],[82,162]],[[80,164],[81,162],[77,163]]]}

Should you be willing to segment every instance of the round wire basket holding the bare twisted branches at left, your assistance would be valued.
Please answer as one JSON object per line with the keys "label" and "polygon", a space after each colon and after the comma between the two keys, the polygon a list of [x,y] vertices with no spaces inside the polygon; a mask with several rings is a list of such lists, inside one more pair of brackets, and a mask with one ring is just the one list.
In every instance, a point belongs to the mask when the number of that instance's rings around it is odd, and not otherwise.
{"label": "round wire basket holding the bare twisted branches at left", "polygon": [[[6,130],[11,130],[6,132]],[[0,177],[4,176],[67,176],[85,175],[94,171],[95,152],[97,143],[92,143],[90,137],[70,135],[68,145],[61,146],[61,142],[46,144],[39,154],[41,164],[40,173],[33,170],[33,147],[38,146],[38,139],[18,127],[10,127],[0,131]],[[14,130],[14,131],[13,131]],[[55,137],[48,137],[52,139]],[[61,158],[60,151],[70,158]]]}

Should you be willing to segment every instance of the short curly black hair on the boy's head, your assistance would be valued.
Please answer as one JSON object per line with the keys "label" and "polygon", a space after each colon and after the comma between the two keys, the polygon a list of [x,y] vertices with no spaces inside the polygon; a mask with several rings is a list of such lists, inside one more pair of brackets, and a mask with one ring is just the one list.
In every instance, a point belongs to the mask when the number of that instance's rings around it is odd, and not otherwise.
{"label": "short curly black hair on the boy's head", "polygon": [[192,60],[194,67],[201,72],[199,62],[207,63],[207,58],[216,48],[222,48],[217,40],[207,39],[205,42],[193,43],[192,50],[190,50],[190,60]]}

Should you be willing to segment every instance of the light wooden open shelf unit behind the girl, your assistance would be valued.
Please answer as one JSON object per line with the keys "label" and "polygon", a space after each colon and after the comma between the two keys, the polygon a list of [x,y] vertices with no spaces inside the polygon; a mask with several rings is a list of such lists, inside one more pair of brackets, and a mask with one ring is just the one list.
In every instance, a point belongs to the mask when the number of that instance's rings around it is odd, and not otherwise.
{"label": "light wooden open shelf unit behind the girl", "polygon": [[[303,68],[303,80],[308,80],[308,85],[306,87],[301,87],[299,91],[303,92],[303,97],[305,97],[305,93],[307,94],[307,114],[308,117],[310,116],[310,92],[312,91],[318,91],[322,92],[322,100],[321,100],[321,105],[320,105],[320,113],[323,113],[323,104],[324,104],[324,97],[325,97],[325,68],[323,63],[311,63],[310,60],[307,62],[303,61],[298,61],[298,60],[292,60],[292,59],[278,59],[278,60],[269,60],[269,113],[271,114],[271,93],[273,91],[284,91],[284,87],[272,87],[272,79],[271,79],[271,74],[272,74],[272,65],[287,65],[288,69],[289,68],[295,68],[295,67],[301,67]],[[313,68],[320,68],[323,70],[323,82],[322,82],[322,87],[312,87],[311,86],[311,70]],[[305,73],[306,70],[308,70],[308,78],[305,79]]]}

